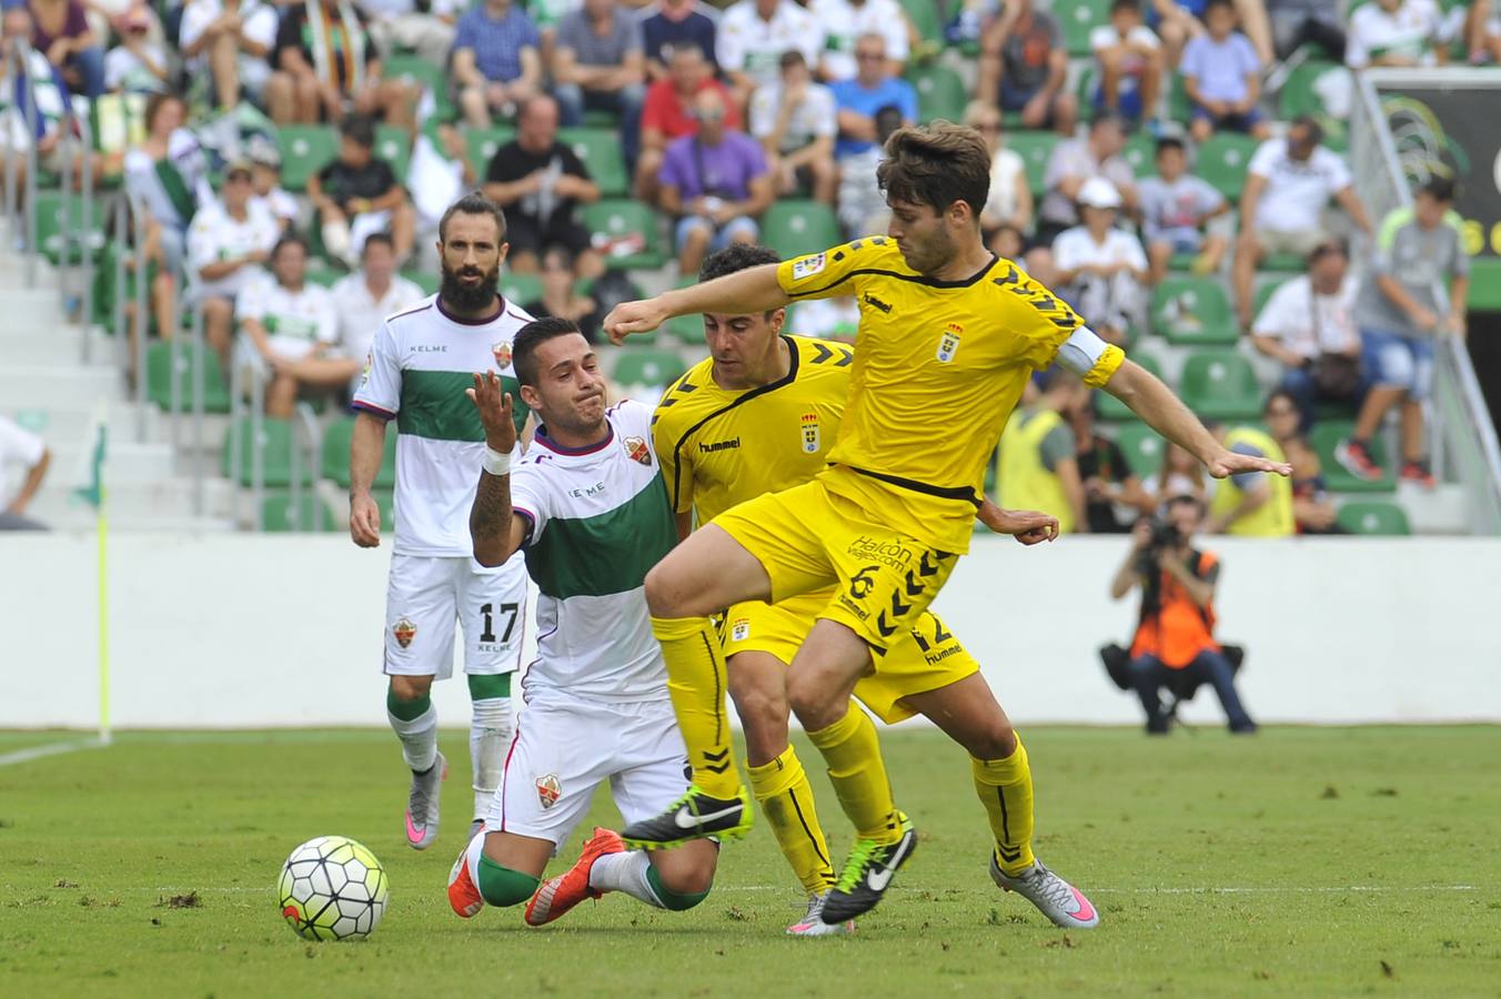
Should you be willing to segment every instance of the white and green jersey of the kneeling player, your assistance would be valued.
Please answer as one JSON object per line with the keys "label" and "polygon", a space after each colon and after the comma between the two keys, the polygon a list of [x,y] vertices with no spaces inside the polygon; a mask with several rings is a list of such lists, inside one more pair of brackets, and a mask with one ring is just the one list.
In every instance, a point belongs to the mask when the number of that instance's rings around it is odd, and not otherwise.
{"label": "white and green jersey of the kneeling player", "polygon": [[609,436],[569,450],[539,429],[510,474],[537,584],[537,658],[527,698],[555,690],[594,700],[665,700],[666,669],[642,582],[677,543],[651,452],[651,408],[626,400]]}

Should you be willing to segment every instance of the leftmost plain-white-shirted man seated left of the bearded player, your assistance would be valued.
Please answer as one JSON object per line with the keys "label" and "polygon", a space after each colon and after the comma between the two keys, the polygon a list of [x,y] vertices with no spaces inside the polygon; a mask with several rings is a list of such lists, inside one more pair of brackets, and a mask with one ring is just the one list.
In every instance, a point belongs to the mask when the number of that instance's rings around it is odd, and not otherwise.
{"label": "leftmost plain-white-shirted man seated left of the bearded player", "polygon": [[231,162],[224,172],[224,192],[198,210],[188,230],[188,273],[192,294],[203,306],[204,339],[225,363],[234,332],[234,298],[261,273],[281,237],[281,225],[254,198],[254,190],[251,165]]}

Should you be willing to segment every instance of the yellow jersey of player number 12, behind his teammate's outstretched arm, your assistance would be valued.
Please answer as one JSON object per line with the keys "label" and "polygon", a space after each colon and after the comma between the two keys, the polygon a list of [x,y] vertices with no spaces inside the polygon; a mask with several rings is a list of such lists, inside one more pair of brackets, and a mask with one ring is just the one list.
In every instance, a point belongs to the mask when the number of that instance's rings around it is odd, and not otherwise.
{"label": "yellow jersey of player number 12, behind his teammate's outstretched arm", "polygon": [[708,524],[729,507],[805,483],[839,435],[854,352],[845,344],[784,336],[787,375],[757,388],[720,388],[714,358],[677,380],[651,416],[651,444],[674,513]]}

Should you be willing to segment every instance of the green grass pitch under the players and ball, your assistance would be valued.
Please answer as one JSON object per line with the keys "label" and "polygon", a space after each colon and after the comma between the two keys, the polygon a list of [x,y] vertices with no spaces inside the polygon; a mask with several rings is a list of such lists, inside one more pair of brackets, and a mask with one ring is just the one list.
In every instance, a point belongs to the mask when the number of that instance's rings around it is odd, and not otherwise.
{"label": "green grass pitch under the players and ball", "polygon": [[[0,758],[60,738],[0,734]],[[0,766],[0,994],[1501,994],[1496,728],[1025,738],[1037,852],[1090,894],[1099,930],[1055,930],[991,885],[964,754],[928,730],[884,740],[913,861],[856,936],[820,940],[782,934],[802,902],[766,828],[725,849],[687,914],[606,896],[543,930],[519,909],[455,918],[464,732],[444,732],[425,854],[402,840],[387,732],[125,734]],[[800,753],[842,855],[844,818]],[[594,818],[614,816],[599,795]],[[303,942],[276,910],[282,860],[326,832],[390,876],[363,944]]]}

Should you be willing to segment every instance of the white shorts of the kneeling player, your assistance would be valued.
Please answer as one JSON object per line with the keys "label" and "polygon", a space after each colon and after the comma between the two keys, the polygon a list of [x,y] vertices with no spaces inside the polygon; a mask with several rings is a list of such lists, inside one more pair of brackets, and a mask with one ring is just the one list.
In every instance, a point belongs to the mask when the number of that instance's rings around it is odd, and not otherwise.
{"label": "white shorts of the kneeling player", "polygon": [[659,814],[683,796],[687,747],[669,700],[560,702],[557,694],[530,700],[516,717],[485,825],[548,840],[555,854],[606,780],[626,824]]}

